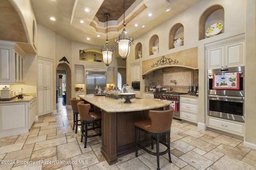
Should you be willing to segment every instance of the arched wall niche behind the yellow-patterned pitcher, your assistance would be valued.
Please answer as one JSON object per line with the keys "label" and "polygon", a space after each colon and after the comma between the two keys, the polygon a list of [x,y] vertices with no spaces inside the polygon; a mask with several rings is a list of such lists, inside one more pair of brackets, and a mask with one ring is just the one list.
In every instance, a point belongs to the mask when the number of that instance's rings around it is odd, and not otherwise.
{"label": "arched wall niche behind the yellow-patterned pitcher", "polygon": [[[180,38],[180,37],[184,37],[184,26],[181,23],[176,23],[175,25],[172,26],[172,28],[170,29],[170,33],[169,33],[169,49],[173,49],[174,48],[174,39]],[[184,45],[184,41],[183,41],[183,45]]]}

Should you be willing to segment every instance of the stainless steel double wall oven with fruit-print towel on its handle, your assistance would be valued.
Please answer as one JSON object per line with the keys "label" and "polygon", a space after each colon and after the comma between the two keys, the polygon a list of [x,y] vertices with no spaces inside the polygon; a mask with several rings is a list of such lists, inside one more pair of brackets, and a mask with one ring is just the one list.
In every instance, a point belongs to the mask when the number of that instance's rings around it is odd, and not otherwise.
{"label": "stainless steel double wall oven with fruit-print towel on its handle", "polygon": [[208,115],[244,122],[244,66],[208,70]]}

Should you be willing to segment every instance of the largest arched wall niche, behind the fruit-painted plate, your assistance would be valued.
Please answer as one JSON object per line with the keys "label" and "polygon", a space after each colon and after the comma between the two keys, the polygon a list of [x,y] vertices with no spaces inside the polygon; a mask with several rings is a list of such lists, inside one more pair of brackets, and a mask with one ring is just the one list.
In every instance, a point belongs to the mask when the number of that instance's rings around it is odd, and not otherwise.
{"label": "largest arched wall niche, behind the fruit-painted plate", "polygon": [[206,30],[214,23],[222,23],[223,28],[220,33],[224,33],[224,8],[221,5],[211,6],[202,13],[199,20],[199,40],[208,38],[205,34]]}

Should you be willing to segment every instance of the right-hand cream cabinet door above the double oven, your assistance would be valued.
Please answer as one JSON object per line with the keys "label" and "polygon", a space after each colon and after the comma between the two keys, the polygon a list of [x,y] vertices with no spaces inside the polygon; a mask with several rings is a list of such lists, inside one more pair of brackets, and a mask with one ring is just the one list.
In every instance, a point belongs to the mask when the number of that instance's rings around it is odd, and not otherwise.
{"label": "right-hand cream cabinet door above the double oven", "polygon": [[244,42],[226,45],[226,66],[244,66]]}

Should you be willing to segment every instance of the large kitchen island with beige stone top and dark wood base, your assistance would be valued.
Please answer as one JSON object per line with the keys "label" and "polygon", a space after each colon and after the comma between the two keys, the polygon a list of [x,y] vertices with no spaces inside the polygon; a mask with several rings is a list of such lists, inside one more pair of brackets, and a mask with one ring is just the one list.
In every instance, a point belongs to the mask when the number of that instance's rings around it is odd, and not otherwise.
{"label": "large kitchen island with beige stone top and dark wood base", "polygon": [[[105,96],[80,95],[81,100],[94,106],[94,111],[102,112],[102,147],[101,152],[108,164],[114,164],[120,156],[135,151],[134,122],[148,119],[149,110],[165,110],[170,101],[150,98],[131,99],[131,104],[124,99],[112,99]],[[145,138],[140,133],[140,139]],[[135,156],[135,155],[134,155]]]}

